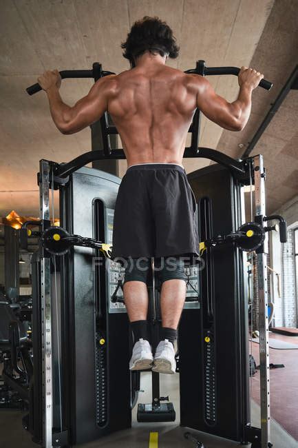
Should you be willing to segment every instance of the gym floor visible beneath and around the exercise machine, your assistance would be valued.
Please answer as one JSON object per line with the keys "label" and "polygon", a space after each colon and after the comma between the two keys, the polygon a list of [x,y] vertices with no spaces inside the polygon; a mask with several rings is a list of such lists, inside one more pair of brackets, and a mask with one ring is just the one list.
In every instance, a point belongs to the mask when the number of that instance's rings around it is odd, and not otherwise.
{"label": "gym floor visible beneath and around the exercise machine", "polygon": [[[270,338],[284,340],[288,343],[298,345],[298,337],[281,336],[270,334]],[[258,363],[259,347],[253,343],[253,356]],[[298,448],[298,357],[296,350],[292,349],[270,349],[270,363],[284,364],[285,368],[270,371],[271,384],[271,441],[274,448]],[[107,447],[116,448],[125,445],[127,448],[193,448],[194,444],[184,438],[187,429],[178,425],[179,416],[179,377],[178,375],[160,376],[161,395],[169,394],[176,411],[176,421],[172,423],[138,423],[136,422],[137,406],[133,410],[132,429],[118,431],[101,440],[77,445],[81,448]],[[253,401],[252,401],[252,424],[259,426],[259,373],[252,378]],[[141,389],[139,403],[150,403],[151,396],[151,376],[145,372],[141,376]],[[36,448],[38,445],[31,440],[30,434],[21,427],[21,417],[19,411],[1,411],[0,418],[0,448]],[[276,419],[276,420],[275,420]],[[158,442],[154,442],[152,433],[158,433]],[[228,448],[239,446],[230,440],[209,436],[199,431],[191,430],[191,433],[204,443],[205,448]],[[150,442],[151,438],[151,442]]]}

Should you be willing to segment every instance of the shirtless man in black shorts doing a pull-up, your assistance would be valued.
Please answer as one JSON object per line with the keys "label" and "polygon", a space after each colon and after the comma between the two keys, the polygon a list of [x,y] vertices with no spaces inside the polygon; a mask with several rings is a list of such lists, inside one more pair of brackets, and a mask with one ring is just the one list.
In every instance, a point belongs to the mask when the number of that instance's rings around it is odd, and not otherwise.
{"label": "shirtless man in black shorts doing a pull-up", "polygon": [[[134,23],[122,48],[131,70],[96,81],[73,107],[61,99],[57,70],[38,81],[63,134],[79,132],[105,111],[116,125],[127,172],[116,201],[112,258],[126,263],[125,305],[135,341],[129,367],[174,373],[173,343],[186,295],[184,263],[191,265],[198,256],[195,198],[182,165],[187,132],[196,108],[224,129],[242,130],[251,113],[251,94],[264,76],[242,67],[240,92],[228,103],[204,77],[165,65],[168,57],[178,57],[179,48],[171,28],[156,17]],[[162,285],[162,328],[154,357],[147,335],[147,275],[153,257]]]}

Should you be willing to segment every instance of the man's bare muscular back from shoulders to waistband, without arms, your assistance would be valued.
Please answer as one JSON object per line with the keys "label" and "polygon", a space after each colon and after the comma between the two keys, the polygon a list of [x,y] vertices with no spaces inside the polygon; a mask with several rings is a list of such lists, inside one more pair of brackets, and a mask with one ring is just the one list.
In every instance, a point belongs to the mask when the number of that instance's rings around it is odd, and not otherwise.
{"label": "man's bare muscular back from shoulders to waistband, without arms", "polygon": [[110,80],[107,110],[123,142],[127,164],[182,163],[197,107],[192,77],[158,65],[134,68]]}

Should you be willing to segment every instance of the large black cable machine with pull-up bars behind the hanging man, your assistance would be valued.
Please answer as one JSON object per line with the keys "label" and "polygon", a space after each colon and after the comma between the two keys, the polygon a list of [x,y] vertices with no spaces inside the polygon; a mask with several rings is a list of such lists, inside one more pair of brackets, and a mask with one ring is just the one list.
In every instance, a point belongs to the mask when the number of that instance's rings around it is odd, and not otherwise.
{"label": "large black cable machine with pull-up bars behind the hanging man", "polygon": [[[187,72],[237,75],[239,70],[206,68],[204,61],[198,61],[196,68]],[[93,70],[65,71],[61,77],[96,80],[107,74],[111,72],[94,63]],[[271,87],[265,80],[260,85],[267,90]],[[39,85],[34,85],[28,93],[39,90]],[[32,259],[34,380],[30,412],[24,421],[33,440],[46,448],[69,447],[129,428],[131,406],[139,389],[139,372],[131,374],[128,369],[131,335],[119,288],[121,268],[108,258],[120,179],[83,167],[96,160],[125,159],[123,150],[111,149],[109,137],[117,130],[107,113],[100,119],[100,129],[100,150],[94,148],[60,165],[40,162],[41,243]],[[271,447],[266,231],[272,227],[264,227],[264,222],[278,218],[283,230],[285,224],[280,217],[266,217],[262,156],[236,161],[198,147],[198,110],[189,132],[191,147],[185,149],[184,157],[202,157],[217,163],[189,174],[198,201],[205,267],[189,272],[179,329],[181,425],[244,444],[252,442],[254,448]],[[255,186],[255,216],[246,227],[244,185],[251,185],[251,199]],[[61,229],[56,231],[51,227],[50,208],[54,189],[60,193]],[[54,207],[54,223],[53,215]],[[284,237],[281,232],[281,241]],[[261,428],[252,427],[249,409],[243,250],[257,252]],[[158,329],[158,285],[154,276],[150,296],[151,323],[153,329]],[[189,339],[195,341],[191,353]],[[160,403],[155,375],[152,403],[139,405],[138,418],[173,420],[170,403],[166,407]]]}

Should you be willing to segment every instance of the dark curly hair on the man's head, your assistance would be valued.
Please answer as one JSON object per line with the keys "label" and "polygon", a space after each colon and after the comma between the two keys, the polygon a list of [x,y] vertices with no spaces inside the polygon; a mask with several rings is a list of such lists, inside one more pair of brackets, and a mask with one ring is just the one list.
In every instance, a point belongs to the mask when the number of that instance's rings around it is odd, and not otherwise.
{"label": "dark curly hair on the man's head", "polygon": [[121,48],[125,50],[123,56],[129,59],[131,67],[136,66],[135,59],[145,51],[158,53],[162,57],[167,54],[172,59],[179,54],[173,31],[158,17],[145,16],[136,21],[127,34],[127,40],[121,43]]}

